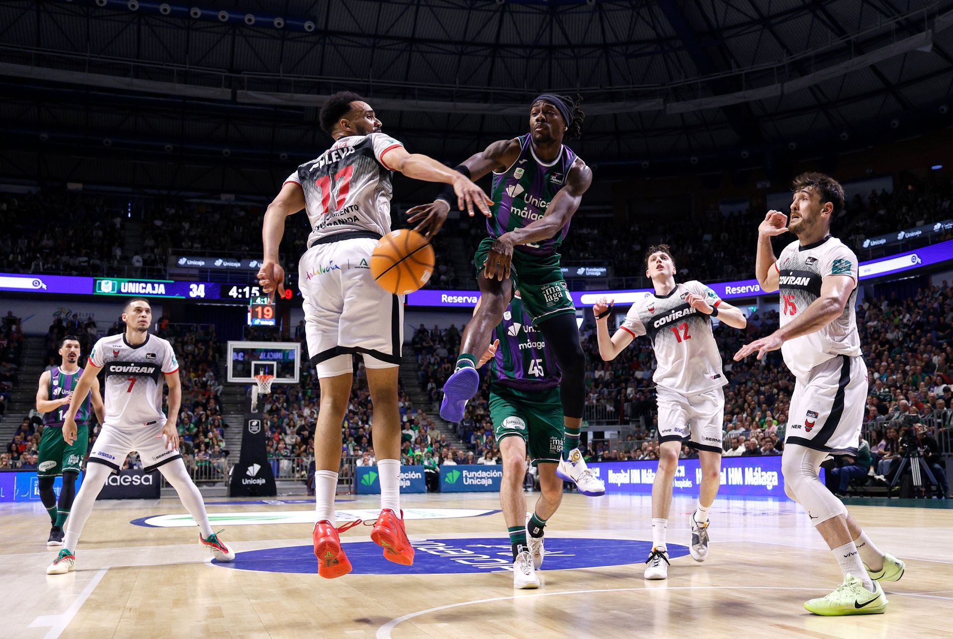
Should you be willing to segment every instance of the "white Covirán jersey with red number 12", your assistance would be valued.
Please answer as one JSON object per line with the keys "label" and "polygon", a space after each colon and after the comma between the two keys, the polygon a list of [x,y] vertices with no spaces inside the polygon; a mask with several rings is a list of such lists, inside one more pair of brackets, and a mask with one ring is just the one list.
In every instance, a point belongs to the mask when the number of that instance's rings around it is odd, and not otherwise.
{"label": "white Covir\u00e1n jersey with red number 12", "polygon": [[682,395],[695,395],[728,383],[712,333],[711,316],[693,308],[685,298],[701,296],[712,306],[721,303],[715,291],[695,279],[676,284],[666,296],[646,293],[632,305],[621,329],[632,337],[648,335],[655,351],[652,380]]}

